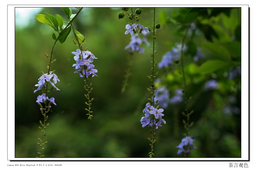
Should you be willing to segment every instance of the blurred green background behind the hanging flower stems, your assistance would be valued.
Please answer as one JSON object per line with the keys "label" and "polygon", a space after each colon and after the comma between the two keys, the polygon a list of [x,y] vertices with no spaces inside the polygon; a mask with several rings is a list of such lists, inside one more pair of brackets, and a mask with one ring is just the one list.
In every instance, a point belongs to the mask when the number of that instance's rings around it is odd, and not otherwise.
{"label": "blurred green background behind the hanging flower stems", "polygon": [[[78,10],[71,8],[73,14]],[[137,8],[133,8],[134,11]],[[143,9],[139,23],[144,27],[152,28],[153,8]],[[35,102],[37,87],[41,71],[47,72],[48,59],[44,53],[50,55],[54,40],[54,30],[48,25],[37,21],[37,14],[59,14],[65,22],[67,18],[61,8],[41,8],[25,20],[19,17],[27,10],[15,12],[15,157],[36,157],[40,152],[38,137],[42,137],[39,121],[43,121],[40,107]],[[191,121],[190,135],[195,137],[194,146],[189,157],[241,157],[241,113],[227,112],[227,107],[236,107],[241,110],[241,77],[231,80],[230,68],[241,65],[241,22],[240,8],[197,8],[195,18],[188,18],[188,8],[157,8],[156,22],[161,28],[157,31],[155,55],[158,63],[162,56],[169,51],[175,43],[181,43],[187,24],[196,23],[198,34],[187,36],[188,52],[184,56],[184,69],[188,84],[188,95],[193,96],[189,110],[194,110]],[[185,11],[185,12],[184,12]],[[118,19],[117,14],[121,8],[84,8],[74,20],[76,30],[86,37],[84,49],[89,47],[98,59],[93,64],[98,70],[98,77],[89,79],[93,83],[94,97],[91,110],[93,119],[87,118],[87,108],[84,102],[86,91],[84,79],[74,74],[74,55],[77,49],[72,40],[72,32],[65,43],[57,42],[51,65],[51,71],[56,70],[60,82],[56,86],[60,91],[53,90],[49,97],[55,98],[47,115],[49,119],[46,128],[44,145],[45,157],[148,157],[151,151],[147,137],[150,137],[149,128],[141,127],[140,119],[144,116],[147,98],[151,98],[146,88],[151,86],[147,75],[152,73],[151,52],[152,45],[146,46],[144,53],[134,53],[132,56],[131,76],[128,79],[126,91],[121,93],[128,67],[129,54],[124,47],[130,42],[130,34],[125,35],[125,26],[131,20],[126,15]],[[130,12],[130,9],[129,11]],[[25,23],[26,22],[26,23]],[[239,30],[240,28],[240,30]],[[240,32],[239,32],[240,31]],[[240,34],[239,34],[240,33]],[[57,32],[55,32],[57,35]],[[153,42],[153,33],[147,35],[150,44]],[[217,35],[217,36],[216,36]],[[191,40],[189,40],[191,37]],[[193,40],[193,42],[192,42]],[[192,43],[191,43],[192,42]],[[223,59],[214,49],[209,50],[203,43],[222,45],[229,58]],[[192,45],[191,45],[192,44]],[[200,47],[205,58],[199,62],[193,60],[193,49]],[[191,52],[192,50],[192,52]],[[220,59],[231,63],[211,72],[195,73],[201,64],[213,59]],[[166,86],[170,96],[175,95],[175,89],[184,88],[181,72],[181,62],[172,67],[159,69],[161,82],[156,87]],[[208,80],[218,82],[218,89],[205,91],[204,86]],[[156,89],[157,89],[156,88]],[[230,102],[230,96],[236,102]],[[88,101],[87,101],[88,102]],[[161,108],[161,106],[160,106]],[[166,124],[155,130],[156,143],[154,144],[155,157],[182,157],[177,155],[176,146],[184,138],[186,130],[183,127],[181,114],[185,109],[183,102],[170,104],[163,112]]]}

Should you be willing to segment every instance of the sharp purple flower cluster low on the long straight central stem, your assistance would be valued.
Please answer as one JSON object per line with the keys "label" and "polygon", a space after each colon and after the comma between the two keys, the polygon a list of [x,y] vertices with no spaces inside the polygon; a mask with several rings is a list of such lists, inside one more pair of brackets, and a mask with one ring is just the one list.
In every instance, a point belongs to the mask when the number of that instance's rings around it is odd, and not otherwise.
{"label": "sharp purple flower cluster low on the long straight central stem", "polygon": [[[145,117],[141,118],[141,124],[142,127],[145,127],[146,125],[148,125],[148,127],[152,128],[152,126],[154,125],[155,128],[157,129],[158,127],[161,127],[161,123],[163,122],[163,124],[166,124],[166,121],[164,119],[162,119],[162,116],[164,116],[164,114],[162,114],[163,109],[157,109],[153,106],[150,105],[150,103],[146,104],[145,109],[143,109],[143,113],[145,113]],[[150,115],[153,115],[153,118],[155,116],[155,119],[151,120]]]}

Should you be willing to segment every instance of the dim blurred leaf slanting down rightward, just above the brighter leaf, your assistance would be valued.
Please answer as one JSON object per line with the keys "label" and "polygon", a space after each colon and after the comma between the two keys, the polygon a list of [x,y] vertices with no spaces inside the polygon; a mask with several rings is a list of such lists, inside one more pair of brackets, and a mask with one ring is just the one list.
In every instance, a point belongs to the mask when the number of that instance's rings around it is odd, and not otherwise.
{"label": "dim blurred leaf slanting down rightward, just above the brighter leaf", "polygon": [[230,54],[224,46],[219,45],[219,44],[215,44],[215,43],[210,43],[210,42],[202,43],[202,45],[204,47],[206,47],[207,49],[209,49],[210,51],[212,51],[212,52],[216,53],[217,55],[221,56],[222,57],[221,59],[230,61]]}

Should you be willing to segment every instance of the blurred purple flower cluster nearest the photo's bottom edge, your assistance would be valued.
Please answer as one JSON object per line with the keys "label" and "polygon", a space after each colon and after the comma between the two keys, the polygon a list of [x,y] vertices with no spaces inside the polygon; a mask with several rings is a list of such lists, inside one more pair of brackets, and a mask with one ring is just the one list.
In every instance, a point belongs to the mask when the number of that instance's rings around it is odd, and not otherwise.
{"label": "blurred purple flower cluster nearest the photo's bottom edge", "polygon": [[193,141],[195,138],[193,136],[186,136],[181,140],[181,143],[179,146],[176,146],[176,148],[179,148],[177,154],[189,154],[191,149],[197,149],[197,147],[194,147]]}

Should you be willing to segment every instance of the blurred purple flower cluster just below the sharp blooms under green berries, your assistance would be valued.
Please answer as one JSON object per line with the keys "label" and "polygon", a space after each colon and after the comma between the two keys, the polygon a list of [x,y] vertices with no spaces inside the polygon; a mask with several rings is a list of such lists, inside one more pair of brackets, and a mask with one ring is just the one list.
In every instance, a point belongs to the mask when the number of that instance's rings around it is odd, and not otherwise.
{"label": "blurred purple flower cluster just below the sharp blooms under green berries", "polygon": [[133,53],[134,51],[138,51],[139,53],[143,53],[144,52],[144,48],[140,47],[140,45],[142,43],[146,43],[147,46],[149,45],[149,43],[147,42],[146,37],[143,37],[141,39],[138,34],[135,34],[134,36],[131,37],[131,41],[125,47],[125,50],[129,49],[129,53]]}

